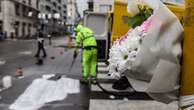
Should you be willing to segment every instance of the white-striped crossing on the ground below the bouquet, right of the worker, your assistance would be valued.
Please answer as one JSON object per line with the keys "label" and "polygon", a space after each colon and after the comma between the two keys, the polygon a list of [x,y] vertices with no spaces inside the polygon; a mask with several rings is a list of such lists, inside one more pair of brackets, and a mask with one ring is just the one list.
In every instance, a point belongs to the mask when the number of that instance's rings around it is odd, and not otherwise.
{"label": "white-striped crossing on the ground below the bouquet, right of the worker", "polygon": [[99,87],[92,85],[89,110],[178,110],[178,102],[164,104],[154,101],[146,93],[133,94],[131,90],[118,91],[112,89],[114,79],[107,75],[106,64],[98,64],[98,79],[104,89],[114,92],[129,94],[131,96],[117,97],[104,93]]}

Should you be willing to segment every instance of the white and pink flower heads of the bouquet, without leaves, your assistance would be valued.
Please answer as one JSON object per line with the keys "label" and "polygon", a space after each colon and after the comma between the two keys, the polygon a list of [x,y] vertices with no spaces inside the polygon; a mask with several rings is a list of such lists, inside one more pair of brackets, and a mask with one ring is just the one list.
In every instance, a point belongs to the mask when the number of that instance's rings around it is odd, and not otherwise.
{"label": "white and pink flower heads of the bouquet, without leaves", "polygon": [[[141,26],[130,29],[124,36],[117,39],[109,53],[109,74],[119,78],[125,70],[130,70],[140,49],[141,42],[152,23],[150,16]],[[135,21],[135,19],[134,19]],[[135,23],[133,23],[135,24]],[[132,25],[133,25],[132,24]]]}

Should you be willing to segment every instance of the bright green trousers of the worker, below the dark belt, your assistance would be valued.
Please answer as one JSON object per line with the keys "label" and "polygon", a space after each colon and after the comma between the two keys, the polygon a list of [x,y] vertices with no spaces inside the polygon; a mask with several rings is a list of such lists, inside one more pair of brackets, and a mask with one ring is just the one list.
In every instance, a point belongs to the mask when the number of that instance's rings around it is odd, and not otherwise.
{"label": "bright green trousers of the worker, below the dark belt", "polygon": [[83,49],[83,67],[84,79],[88,80],[89,73],[92,78],[96,78],[96,65],[97,65],[97,48],[90,47]]}

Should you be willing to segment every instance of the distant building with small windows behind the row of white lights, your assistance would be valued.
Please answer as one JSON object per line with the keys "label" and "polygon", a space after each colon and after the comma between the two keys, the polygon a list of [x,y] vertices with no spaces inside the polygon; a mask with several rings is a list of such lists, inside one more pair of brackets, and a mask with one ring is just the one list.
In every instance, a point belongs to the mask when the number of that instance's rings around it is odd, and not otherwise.
{"label": "distant building with small windows behind the row of white lights", "polygon": [[40,21],[46,33],[63,34],[67,21],[67,0],[40,0]]}

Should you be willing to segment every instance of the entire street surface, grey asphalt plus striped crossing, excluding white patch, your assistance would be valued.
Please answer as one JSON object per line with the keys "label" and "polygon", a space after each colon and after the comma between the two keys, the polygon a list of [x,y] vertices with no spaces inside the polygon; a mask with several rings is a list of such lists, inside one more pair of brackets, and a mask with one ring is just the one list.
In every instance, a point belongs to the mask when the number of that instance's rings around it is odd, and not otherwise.
{"label": "entire street surface, grey asphalt plus striped crossing, excluding white patch", "polygon": [[[81,52],[76,63],[70,72],[69,68],[73,60],[73,49],[64,49],[67,43],[64,37],[53,40],[53,44],[48,45],[46,40],[46,51],[48,57],[43,59],[44,64],[36,65],[37,58],[35,40],[18,40],[0,42],[0,78],[6,75],[13,76],[13,86],[0,92],[0,110],[9,110],[12,104],[32,83],[34,79],[45,74],[64,73],[66,77],[80,79],[82,77]],[[24,78],[15,78],[16,70],[21,67]],[[175,110],[177,102],[163,104],[154,101],[146,93],[133,93],[131,91],[116,91],[112,89],[112,84],[116,81],[107,75],[107,65],[98,65],[98,82],[101,86],[114,94],[126,94],[117,97],[107,94],[96,85],[80,86],[80,93],[69,94],[63,101],[56,101],[45,104],[39,110]],[[0,80],[1,81],[1,80]],[[0,83],[1,85],[1,83]]]}

